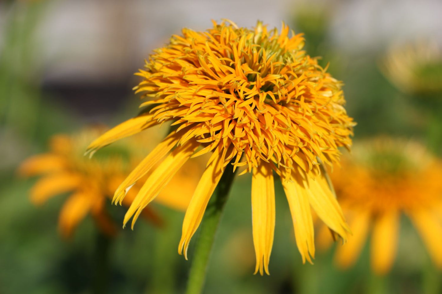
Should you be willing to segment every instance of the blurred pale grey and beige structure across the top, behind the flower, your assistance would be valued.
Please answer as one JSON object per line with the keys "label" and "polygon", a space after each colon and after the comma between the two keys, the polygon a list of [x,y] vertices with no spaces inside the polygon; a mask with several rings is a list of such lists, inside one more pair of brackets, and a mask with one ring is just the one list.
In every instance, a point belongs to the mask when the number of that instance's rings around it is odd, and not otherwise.
{"label": "blurred pale grey and beige structure across the top, behind the flower", "polygon": [[[50,0],[39,27],[44,79],[126,80],[184,26],[205,30],[211,19],[228,18],[239,26],[259,19],[280,27],[293,23],[301,4],[330,11],[332,42],[347,51],[416,36],[442,39],[440,0]],[[0,40],[7,7],[0,4]]]}

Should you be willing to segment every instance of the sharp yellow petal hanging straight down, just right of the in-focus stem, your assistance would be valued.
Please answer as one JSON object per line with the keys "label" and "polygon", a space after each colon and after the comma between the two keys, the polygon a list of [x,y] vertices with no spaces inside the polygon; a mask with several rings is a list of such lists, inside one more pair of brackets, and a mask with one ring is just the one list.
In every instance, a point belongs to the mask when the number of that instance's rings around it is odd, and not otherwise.
{"label": "sharp yellow petal hanging straight down, just right of the in-focus stem", "polygon": [[275,226],[275,196],[273,170],[270,164],[260,162],[253,168],[251,182],[253,244],[255,245],[255,274],[263,270],[269,275],[269,260]]}

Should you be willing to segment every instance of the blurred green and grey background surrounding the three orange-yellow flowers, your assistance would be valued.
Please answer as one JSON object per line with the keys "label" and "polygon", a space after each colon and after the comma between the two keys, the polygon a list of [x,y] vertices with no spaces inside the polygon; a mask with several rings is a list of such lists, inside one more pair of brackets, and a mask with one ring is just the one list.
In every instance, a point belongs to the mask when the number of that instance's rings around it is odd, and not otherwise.
{"label": "blurred green and grey background surrounding the three orange-yellow flowers", "polygon": [[[439,0],[0,1],[0,293],[99,293],[94,223],[86,218],[64,240],[57,232],[64,196],[34,206],[28,195],[35,181],[17,177],[17,166],[45,152],[53,134],[133,117],[133,73],[171,34],[184,26],[206,30],[211,19],[246,27],[259,19],[271,28],[284,21],[305,33],[309,55],[330,62],[329,72],[344,82],[347,112],[358,123],[355,142],[412,138],[439,156],[441,11]],[[333,250],[302,265],[281,187],[271,275],[252,275],[250,186],[247,175],[234,184],[205,293],[442,293],[442,275],[406,219],[392,271],[381,281],[371,272],[368,246],[345,271],[335,267]],[[109,209],[122,223],[125,209]],[[191,264],[176,254],[183,212],[156,209],[160,228],[118,226],[102,293],[183,293]]]}

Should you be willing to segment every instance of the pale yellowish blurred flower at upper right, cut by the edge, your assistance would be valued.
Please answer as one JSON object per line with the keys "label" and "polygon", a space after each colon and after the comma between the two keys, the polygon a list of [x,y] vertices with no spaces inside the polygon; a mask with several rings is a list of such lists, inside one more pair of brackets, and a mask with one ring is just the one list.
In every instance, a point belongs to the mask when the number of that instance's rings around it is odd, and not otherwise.
{"label": "pale yellowish blurred flower at upper right, cut by the edge", "polygon": [[390,82],[403,92],[442,91],[442,52],[436,41],[392,45],[380,67]]}

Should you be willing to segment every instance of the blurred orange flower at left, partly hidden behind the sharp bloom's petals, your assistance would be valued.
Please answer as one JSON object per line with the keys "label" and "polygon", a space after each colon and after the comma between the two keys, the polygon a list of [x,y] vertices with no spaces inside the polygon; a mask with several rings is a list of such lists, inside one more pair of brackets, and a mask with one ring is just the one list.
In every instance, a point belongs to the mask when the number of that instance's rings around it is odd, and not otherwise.
{"label": "blurred orange flower at left, partly hidden behind the sharp bloom's petals", "polygon": [[[19,167],[19,173],[25,176],[42,175],[30,191],[34,204],[43,204],[54,195],[72,192],[60,211],[59,228],[64,237],[70,237],[73,230],[84,217],[90,213],[97,226],[108,235],[114,235],[116,228],[107,214],[105,203],[110,200],[115,189],[138,162],[140,150],[134,150],[131,145],[146,143],[147,140],[134,137],[132,143],[122,142],[113,148],[103,150],[99,156],[89,159],[83,156],[87,144],[101,133],[98,128],[87,129],[72,136],[56,135],[50,140],[50,151],[45,154],[28,158]],[[152,137],[149,137],[152,140]],[[153,140],[155,142],[155,140]],[[150,143],[152,144],[152,143]],[[147,145],[149,147],[149,145]],[[194,172],[202,170],[198,166],[189,166]],[[196,180],[185,175],[177,175],[173,183],[194,188]],[[170,207],[186,209],[191,193],[180,192],[182,197],[177,201],[174,196],[176,188],[164,189],[158,197],[158,202]],[[135,186],[124,200],[129,206],[137,194],[139,186]],[[154,223],[160,218],[152,209],[145,210],[143,215]]]}

